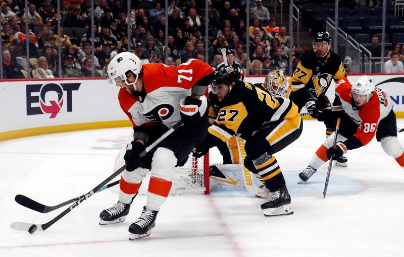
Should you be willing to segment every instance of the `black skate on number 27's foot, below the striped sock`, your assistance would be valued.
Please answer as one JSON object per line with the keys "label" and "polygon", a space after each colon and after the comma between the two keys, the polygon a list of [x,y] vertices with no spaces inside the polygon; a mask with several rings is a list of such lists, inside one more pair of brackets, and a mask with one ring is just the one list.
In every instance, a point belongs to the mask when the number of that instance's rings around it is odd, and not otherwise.
{"label": "black skate on number 27's foot, below the striped sock", "polygon": [[271,192],[268,202],[262,204],[261,209],[264,210],[264,216],[266,217],[293,214],[286,185],[275,192]]}

